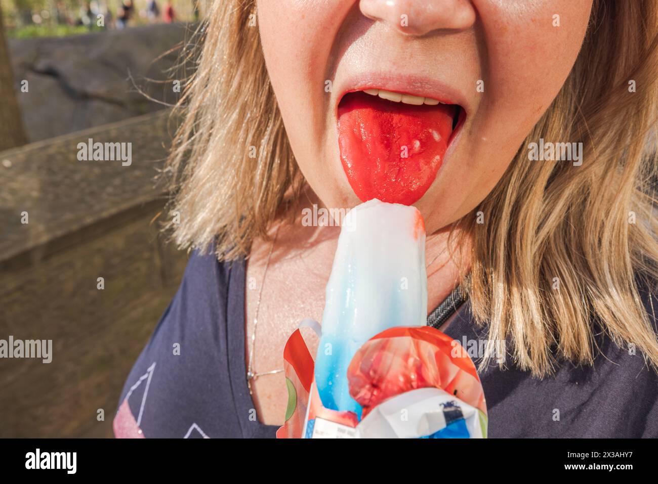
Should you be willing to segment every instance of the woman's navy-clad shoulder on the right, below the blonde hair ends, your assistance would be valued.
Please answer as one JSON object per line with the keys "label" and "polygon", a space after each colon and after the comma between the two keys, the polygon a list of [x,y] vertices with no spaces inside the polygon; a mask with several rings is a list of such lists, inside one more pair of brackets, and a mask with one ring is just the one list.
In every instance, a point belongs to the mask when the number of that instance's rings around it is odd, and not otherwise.
{"label": "woman's navy-clad shoulder on the right, below the blonde hair ends", "polygon": [[[654,329],[656,285],[638,278]],[[511,364],[480,376],[490,406],[492,437],[658,437],[658,374],[634,345],[592,321],[594,364],[561,360],[555,374],[535,379]]]}

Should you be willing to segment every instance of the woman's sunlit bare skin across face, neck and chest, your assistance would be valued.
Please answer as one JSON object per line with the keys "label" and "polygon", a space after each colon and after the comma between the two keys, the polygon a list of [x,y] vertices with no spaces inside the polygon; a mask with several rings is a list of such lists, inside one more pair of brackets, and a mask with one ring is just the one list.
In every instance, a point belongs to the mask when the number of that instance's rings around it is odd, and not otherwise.
{"label": "woman's sunlit bare skin across face, neck and chest", "polygon": [[[336,116],[345,92],[378,87],[432,93],[461,105],[467,113],[463,126],[436,179],[414,204],[429,234],[432,310],[455,284],[455,265],[445,254],[448,226],[471,216],[557,95],[582,45],[591,7],[591,0],[257,1],[270,80],[309,185],[301,203],[361,203],[338,151]],[[401,25],[403,15],[407,26]],[[301,216],[301,207],[295,210]],[[284,344],[299,320],[321,320],[338,233],[299,223],[278,233],[259,308],[255,371],[282,368]],[[255,241],[247,265],[247,278],[255,282],[255,289],[247,288],[249,345],[269,249]],[[259,420],[283,423],[283,375],[261,377],[253,389]]]}

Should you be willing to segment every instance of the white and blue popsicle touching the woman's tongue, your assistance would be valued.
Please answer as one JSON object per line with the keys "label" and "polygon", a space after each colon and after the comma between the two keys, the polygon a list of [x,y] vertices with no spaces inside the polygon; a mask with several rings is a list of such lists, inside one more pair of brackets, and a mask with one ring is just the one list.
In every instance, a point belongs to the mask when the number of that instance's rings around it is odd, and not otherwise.
{"label": "white and blue popsicle touching the woman's tongue", "polygon": [[315,384],[322,405],[355,412],[347,367],[374,335],[424,326],[427,316],[425,228],[417,208],[372,199],[343,220],[326,287]]}

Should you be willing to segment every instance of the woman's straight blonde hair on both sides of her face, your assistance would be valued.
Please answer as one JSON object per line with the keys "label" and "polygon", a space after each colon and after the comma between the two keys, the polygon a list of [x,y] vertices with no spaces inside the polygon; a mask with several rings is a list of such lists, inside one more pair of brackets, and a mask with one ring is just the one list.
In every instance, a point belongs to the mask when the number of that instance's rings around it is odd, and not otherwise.
{"label": "woman's straight blonde hair on both sides of her face", "polygon": [[[594,325],[658,368],[658,340],[638,291],[640,283],[653,291],[658,278],[657,7],[594,1],[559,95],[492,193],[455,225],[474,241],[467,290],[476,322],[490,324],[490,339],[510,341],[515,364],[539,377],[558,360],[592,364]],[[223,260],[266,237],[303,184],[258,30],[249,26],[253,13],[253,1],[213,2],[168,161],[170,211],[181,220],[169,224],[176,243],[213,247]],[[582,141],[586,162],[528,163],[526,146],[540,138]],[[476,223],[477,212],[486,224]]]}

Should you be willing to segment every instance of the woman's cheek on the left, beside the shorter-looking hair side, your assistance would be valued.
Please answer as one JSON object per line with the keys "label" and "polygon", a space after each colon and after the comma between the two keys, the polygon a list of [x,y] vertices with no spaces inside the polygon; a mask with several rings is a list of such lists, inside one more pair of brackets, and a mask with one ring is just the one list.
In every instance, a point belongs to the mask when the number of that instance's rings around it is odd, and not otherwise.
{"label": "woman's cheek on the left, beside the shorter-looking hair side", "polygon": [[332,42],[351,5],[351,0],[257,3],[263,55],[286,134],[301,172],[320,192],[319,185],[326,183],[323,142],[331,95],[325,87],[332,78],[326,70]]}

